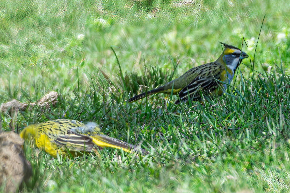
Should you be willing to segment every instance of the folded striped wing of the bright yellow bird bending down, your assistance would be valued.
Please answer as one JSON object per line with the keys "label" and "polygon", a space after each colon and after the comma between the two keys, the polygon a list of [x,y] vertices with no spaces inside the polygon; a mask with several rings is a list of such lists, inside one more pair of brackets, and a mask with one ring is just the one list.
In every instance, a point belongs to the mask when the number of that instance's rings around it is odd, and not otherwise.
{"label": "folded striped wing of the bright yellow bird bending down", "polygon": [[58,135],[53,142],[60,148],[70,151],[91,152],[95,148],[92,138],[74,131],[68,131],[66,135]]}

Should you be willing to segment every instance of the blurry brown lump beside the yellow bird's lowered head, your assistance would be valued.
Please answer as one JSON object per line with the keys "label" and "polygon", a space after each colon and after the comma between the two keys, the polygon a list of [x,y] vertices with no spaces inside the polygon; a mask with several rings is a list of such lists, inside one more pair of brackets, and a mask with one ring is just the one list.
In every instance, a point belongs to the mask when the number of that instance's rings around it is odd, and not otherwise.
{"label": "blurry brown lump beside the yellow bird's lowered head", "polygon": [[6,184],[4,192],[16,192],[32,174],[23,154],[23,142],[16,133],[0,133],[0,187]]}

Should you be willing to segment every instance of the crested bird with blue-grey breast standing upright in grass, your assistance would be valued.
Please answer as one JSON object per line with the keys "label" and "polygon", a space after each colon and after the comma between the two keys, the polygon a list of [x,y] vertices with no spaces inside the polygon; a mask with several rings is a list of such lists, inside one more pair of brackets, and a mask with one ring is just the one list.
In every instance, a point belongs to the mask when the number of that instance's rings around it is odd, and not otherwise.
{"label": "crested bird with blue-grey breast standing upright in grass", "polygon": [[224,46],[223,53],[214,62],[193,67],[182,76],[156,89],[134,96],[128,102],[134,102],[155,93],[178,94],[179,100],[175,101],[175,104],[189,99],[203,102],[202,95],[222,95],[227,84],[230,84],[233,79],[235,70],[242,59],[248,58],[249,55],[232,45],[221,44]]}

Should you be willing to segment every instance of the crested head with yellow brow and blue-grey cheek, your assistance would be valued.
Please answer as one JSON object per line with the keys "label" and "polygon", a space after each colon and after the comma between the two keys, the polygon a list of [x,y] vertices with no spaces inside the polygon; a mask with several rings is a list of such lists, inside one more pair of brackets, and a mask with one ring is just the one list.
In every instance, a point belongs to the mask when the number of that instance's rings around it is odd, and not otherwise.
{"label": "crested head with yellow brow and blue-grey cheek", "polygon": [[225,65],[229,67],[233,71],[233,73],[235,73],[235,70],[242,62],[242,59],[248,58],[249,55],[235,46],[222,42],[220,43],[224,46],[224,50],[218,60],[225,63]]}

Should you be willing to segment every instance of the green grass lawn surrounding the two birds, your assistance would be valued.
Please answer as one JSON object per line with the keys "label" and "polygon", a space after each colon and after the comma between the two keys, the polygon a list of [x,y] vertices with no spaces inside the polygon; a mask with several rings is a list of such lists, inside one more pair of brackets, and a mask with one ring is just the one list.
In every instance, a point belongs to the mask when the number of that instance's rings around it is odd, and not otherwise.
{"label": "green grass lawn surrounding the two birds", "polygon": [[[0,103],[61,94],[55,108],[19,113],[19,128],[95,121],[150,152],[58,160],[26,146],[34,175],[23,192],[289,192],[288,1],[26,0],[0,10]],[[252,63],[243,60],[227,95],[205,106],[163,94],[126,102],[214,61],[218,41],[241,47],[242,38]]]}

